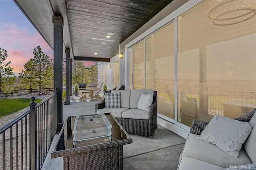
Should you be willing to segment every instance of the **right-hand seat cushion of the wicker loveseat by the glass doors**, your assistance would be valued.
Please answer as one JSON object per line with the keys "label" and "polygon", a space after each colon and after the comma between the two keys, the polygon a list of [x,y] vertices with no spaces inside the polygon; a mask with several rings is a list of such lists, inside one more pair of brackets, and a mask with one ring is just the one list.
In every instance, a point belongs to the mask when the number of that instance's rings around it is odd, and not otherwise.
{"label": "right-hand seat cushion of the wicker loveseat by the glass doors", "polygon": [[148,114],[149,114],[148,111],[144,111],[140,109],[129,109],[122,113],[122,118],[148,120]]}

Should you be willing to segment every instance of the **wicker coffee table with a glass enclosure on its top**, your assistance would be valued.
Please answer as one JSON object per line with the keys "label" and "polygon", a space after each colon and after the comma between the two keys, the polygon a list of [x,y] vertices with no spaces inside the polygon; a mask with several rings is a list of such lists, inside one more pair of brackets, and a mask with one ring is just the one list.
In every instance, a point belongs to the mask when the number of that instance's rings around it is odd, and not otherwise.
{"label": "wicker coffee table with a glass enclosure on its top", "polygon": [[[51,153],[51,158],[63,156],[63,169],[123,169],[123,145],[132,143],[132,138],[111,113],[102,114],[70,116],[64,121]],[[84,127],[84,123],[88,127]],[[93,127],[89,125],[91,123]],[[103,133],[95,135],[101,128]]]}

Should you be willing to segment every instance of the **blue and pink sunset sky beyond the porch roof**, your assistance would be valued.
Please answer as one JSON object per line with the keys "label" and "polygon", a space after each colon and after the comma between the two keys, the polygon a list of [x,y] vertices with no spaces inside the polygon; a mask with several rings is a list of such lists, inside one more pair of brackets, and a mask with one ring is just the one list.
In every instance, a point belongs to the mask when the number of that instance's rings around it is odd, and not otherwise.
{"label": "blue and pink sunset sky beyond the porch roof", "polygon": [[[53,59],[53,50],[44,41],[26,16],[12,0],[0,0],[0,47],[6,49],[10,66],[16,76],[24,70],[24,64],[33,58],[34,49],[40,45],[42,51]],[[84,62],[85,66],[95,62]]]}

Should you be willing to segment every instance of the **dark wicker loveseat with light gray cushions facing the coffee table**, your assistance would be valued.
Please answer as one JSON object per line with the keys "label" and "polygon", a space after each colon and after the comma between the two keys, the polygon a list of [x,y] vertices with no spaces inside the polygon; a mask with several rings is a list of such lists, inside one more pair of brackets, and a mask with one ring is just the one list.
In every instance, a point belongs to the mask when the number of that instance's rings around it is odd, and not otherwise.
{"label": "dark wicker loveseat with light gray cushions facing the coffee table", "polygon": [[[120,93],[120,108],[105,108],[105,99],[95,105],[95,113],[112,113],[128,133],[153,139],[157,128],[157,92],[153,90],[111,90]],[[153,94],[149,111],[138,109],[141,94]]]}

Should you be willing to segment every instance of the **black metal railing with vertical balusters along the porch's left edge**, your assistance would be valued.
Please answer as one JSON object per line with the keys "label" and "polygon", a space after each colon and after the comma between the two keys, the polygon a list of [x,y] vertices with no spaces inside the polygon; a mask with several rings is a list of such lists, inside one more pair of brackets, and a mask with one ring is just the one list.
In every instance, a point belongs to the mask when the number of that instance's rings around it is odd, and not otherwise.
{"label": "black metal railing with vertical balusters along the porch's left edge", "polygon": [[57,130],[57,94],[0,128],[0,169],[42,168]]}

